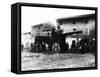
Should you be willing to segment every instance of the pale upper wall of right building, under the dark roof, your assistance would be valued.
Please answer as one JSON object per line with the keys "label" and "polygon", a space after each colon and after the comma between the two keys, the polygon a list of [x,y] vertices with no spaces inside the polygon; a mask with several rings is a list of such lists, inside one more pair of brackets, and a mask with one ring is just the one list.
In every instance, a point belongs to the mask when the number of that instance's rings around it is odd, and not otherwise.
{"label": "pale upper wall of right building, under the dark roof", "polygon": [[[61,25],[61,28],[63,29],[64,33],[66,32],[72,32],[73,28],[76,28],[76,30],[82,30],[83,34],[87,35],[90,33],[91,30],[95,30],[95,20],[88,20],[88,23],[81,23],[81,22],[75,22],[73,24],[72,22],[70,23],[65,23]],[[86,30],[87,28],[87,30]]]}

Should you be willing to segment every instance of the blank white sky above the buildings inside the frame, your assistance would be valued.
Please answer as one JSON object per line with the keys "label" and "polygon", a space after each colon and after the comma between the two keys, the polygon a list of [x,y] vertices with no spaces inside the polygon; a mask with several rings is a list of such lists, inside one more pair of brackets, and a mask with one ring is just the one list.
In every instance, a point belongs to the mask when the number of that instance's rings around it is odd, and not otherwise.
{"label": "blank white sky above the buildings inside the frame", "polygon": [[22,33],[30,32],[31,26],[51,21],[56,25],[55,20],[58,18],[67,18],[76,15],[84,15],[95,13],[94,10],[75,10],[75,9],[58,9],[58,8],[42,8],[42,7],[26,7],[22,6]]}

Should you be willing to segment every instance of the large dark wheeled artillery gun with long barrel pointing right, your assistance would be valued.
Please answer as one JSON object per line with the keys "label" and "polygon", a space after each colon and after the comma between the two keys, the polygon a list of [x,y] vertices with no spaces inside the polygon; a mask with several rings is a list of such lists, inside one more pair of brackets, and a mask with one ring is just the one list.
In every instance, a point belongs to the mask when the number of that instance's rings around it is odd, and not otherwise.
{"label": "large dark wheeled artillery gun with long barrel pointing right", "polygon": [[82,31],[73,31],[68,33],[63,33],[60,26],[55,29],[54,27],[44,27],[44,29],[39,32],[35,37],[34,51],[35,52],[52,52],[59,53],[66,50],[65,39],[66,36],[72,34],[79,34]]}

